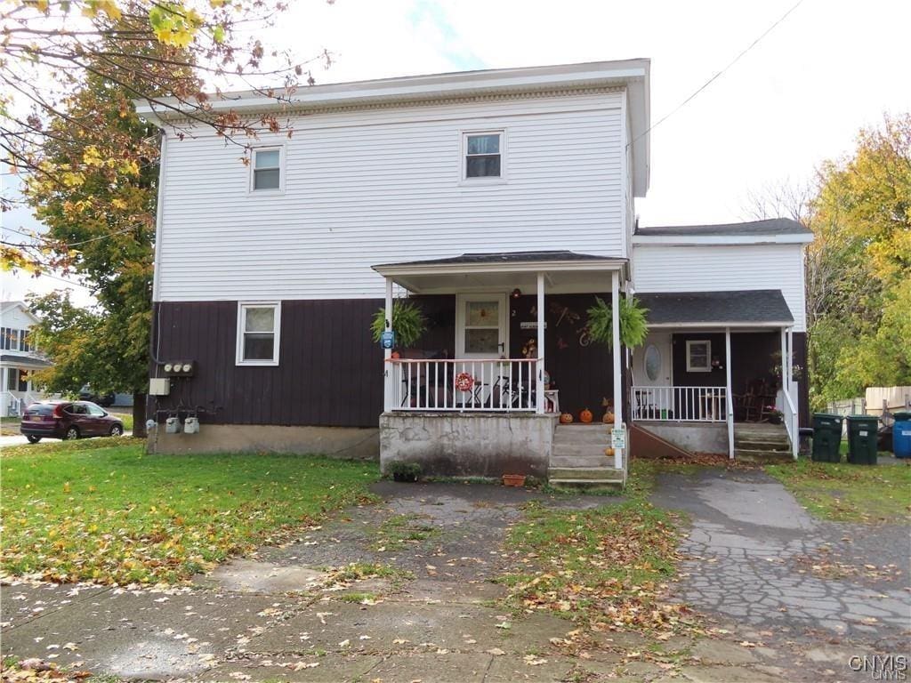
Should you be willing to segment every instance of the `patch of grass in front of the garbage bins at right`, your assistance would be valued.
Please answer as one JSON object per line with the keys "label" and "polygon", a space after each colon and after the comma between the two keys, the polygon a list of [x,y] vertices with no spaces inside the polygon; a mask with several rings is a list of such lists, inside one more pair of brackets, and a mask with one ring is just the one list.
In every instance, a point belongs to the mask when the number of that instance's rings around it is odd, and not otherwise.
{"label": "patch of grass in front of the garbage bins at right", "polygon": [[[846,443],[843,444],[846,447]],[[767,465],[811,514],[837,522],[898,522],[911,518],[911,464]]]}

